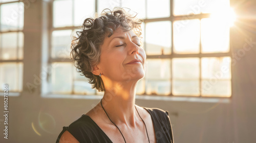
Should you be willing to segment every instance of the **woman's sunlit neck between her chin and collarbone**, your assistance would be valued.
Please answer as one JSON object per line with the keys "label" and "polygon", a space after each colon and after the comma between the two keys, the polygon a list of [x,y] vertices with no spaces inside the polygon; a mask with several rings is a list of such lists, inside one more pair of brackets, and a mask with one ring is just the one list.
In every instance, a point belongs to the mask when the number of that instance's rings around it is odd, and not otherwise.
{"label": "woman's sunlit neck between her chin and collarbone", "polygon": [[138,81],[112,83],[105,86],[102,106],[115,124],[135,127],[137,120],[135,94]]}

